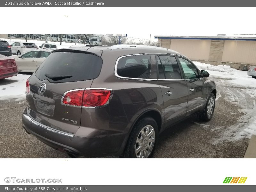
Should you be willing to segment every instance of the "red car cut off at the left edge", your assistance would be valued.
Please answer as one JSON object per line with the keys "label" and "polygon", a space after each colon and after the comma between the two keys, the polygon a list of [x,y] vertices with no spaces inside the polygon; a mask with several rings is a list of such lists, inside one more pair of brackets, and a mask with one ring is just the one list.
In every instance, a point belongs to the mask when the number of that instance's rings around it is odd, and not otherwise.
{"label": "red car cut off at the left edge", "polygon": [[18,67],[13,57],[0,54],[0,79],[18,75]]}

